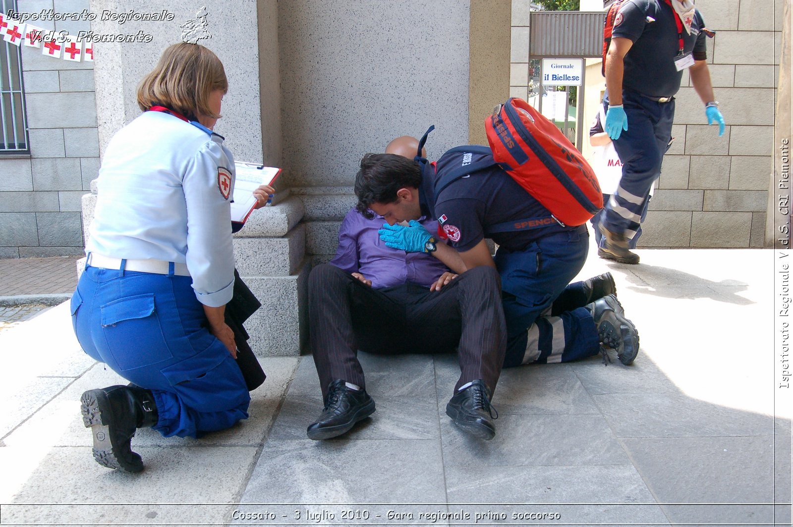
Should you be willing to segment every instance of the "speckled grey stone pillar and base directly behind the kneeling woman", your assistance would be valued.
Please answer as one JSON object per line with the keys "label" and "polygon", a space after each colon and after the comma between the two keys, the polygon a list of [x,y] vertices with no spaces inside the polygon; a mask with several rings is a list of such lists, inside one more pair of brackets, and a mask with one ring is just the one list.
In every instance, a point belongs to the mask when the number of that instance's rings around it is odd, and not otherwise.
{"label": "speckled grey stone pillar and base directly behind the kneeling woman", "polygon": [[[196,18],[205,2],[153,2],[151,0],[91,0],[97,15],[91,29],[96,35],[151,35],[150,42],[95,44],[94,78],[97,86],[99,140],[102,153],[121,127],[140,115],[136,86],[154,67],[163,49],[182,40],[180,25]],[[173,14],[170,21],[125,21],[122,13]],[[223,118],[215,131],[238,161],[282,166],[281,75],[278,52],[278,2],[239,0],[206,7],[206,31],[211,38],[199,43],[213,50],[224,63],[228,94]],[[262,302],[246,324],[250,344],[259,356],[297,355],[305,346],[306,277],[304,208],[289,197],[277,181],[273,207],[253,212],[234,236],[240,277]],[[94,215],[96,185],[83,198],[86,227]],[[86,239],[89,235],[86,228]]]}

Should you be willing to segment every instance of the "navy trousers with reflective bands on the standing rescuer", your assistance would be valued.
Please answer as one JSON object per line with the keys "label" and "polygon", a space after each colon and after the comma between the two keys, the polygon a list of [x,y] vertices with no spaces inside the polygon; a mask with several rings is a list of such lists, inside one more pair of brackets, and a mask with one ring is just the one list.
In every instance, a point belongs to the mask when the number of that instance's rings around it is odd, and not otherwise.
{"label": "navy trousers with reflective bands on the standing rescuer", "polygon": [[[608,105],[608,95],[603,97],[603,105]],[[647,214],[649,189],[661,175],[661,162],[672,139],[675,101],[657,102],[624,90],[623,108],[628,129],[614,142],[623,162],[623,177],[606,204],[602,222],[609,231],[638,239],[639,225]]]}

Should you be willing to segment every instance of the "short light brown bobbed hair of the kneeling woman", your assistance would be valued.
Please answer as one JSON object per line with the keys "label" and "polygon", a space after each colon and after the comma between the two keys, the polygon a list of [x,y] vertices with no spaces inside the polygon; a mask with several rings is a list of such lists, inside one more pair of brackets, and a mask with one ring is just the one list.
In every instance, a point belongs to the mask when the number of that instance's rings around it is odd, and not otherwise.
{"label": "short light brown bobbed hair of the kneeling woman", "polygon": [[180,42],[169,46],[159,62],[138,86],[138,106],[146,111],[165,106],[190,120],[199,116],[220,118],[209,109],[209,94],[228,91],[223,64],[199,44]]}

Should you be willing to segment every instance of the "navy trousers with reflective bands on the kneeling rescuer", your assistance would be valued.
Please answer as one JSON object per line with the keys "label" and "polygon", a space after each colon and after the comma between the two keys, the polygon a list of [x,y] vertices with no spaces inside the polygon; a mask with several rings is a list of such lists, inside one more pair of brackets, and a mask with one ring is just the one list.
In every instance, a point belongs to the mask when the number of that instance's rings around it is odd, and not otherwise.
{"label": "navy trousers with reflective bands on the kneeling rescuer", "polygon": [[[569,283],[584,267],[588,245],[589,235],[582,225],[575,231],[538,239],[521,251],[499,247],[496,268],[501,276],[508,338],[504,368],[527,362],[574,361],[600,351],[588,309],[576,307],[550,316],[554,300],[566,289],[571,300],[577,289],[582,289],[580,282]],[[527,344],[538,347],[538,353],[532,355]],[[552,354],[555,360],[549,359]]]}

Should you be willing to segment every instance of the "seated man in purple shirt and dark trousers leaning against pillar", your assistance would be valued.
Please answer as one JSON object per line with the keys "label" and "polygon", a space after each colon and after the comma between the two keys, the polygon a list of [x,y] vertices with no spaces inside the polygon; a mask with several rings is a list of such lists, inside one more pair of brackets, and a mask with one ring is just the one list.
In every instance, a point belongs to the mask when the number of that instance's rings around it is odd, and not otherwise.
{"label": "seated man in purple shirt and dark trousers leaning against pillar", "polygon": [[[412,138],[400,138],[412,139]],[[397,140],[398,141],[398,140]],[[395,142],[397,142],[395,141]],[[412,139],[416,152],[416,139]],[[401,153],[398,144],[387,151]],[[408,149],[409,150],[409,149]],[[367,218],[364,215],[371,216]],[[438,222],[419,219],[430,232]],[[457,349],[461,388],[495,386],[504,363],[506,326],[496,269],[477,267],[459,276],[442,263],[450,250],[440,236],[424,253],[405,253],[385,246],[377,231],[382,216],[356,209],[339,230],[339,247],[330,264],[317,265],[308,277],[308,317],[324,410],[308,426],[315,440],[336,437],[374,413],[356,353],[443,353]],[[432,255],[431,253],[435,253]],[[477,390],[461,392],[465,399]],[[455,402],[454,398],[453,401]],[[472,405],[456,401],[458,426],[477,437],[492,439],[489,408],[468,412]]]}

